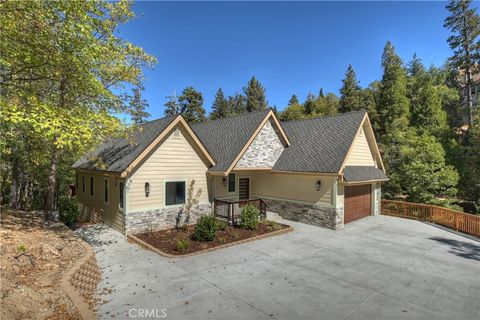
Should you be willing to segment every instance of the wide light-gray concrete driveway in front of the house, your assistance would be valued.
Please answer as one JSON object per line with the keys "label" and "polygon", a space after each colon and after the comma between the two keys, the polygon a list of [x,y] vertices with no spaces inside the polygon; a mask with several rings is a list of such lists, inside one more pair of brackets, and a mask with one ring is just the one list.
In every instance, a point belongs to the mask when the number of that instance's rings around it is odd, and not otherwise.
{"label": "wide light-gray concrete driveway in front of the house", "polygon": [[288,224],[295,229],[289,234],[176,259],[128,243],[106,227],[85,229],[103,273],[99,291],[106,303],[98,314],[104,319],[165,313],[167,319],[480,319],[475,240],[387,216],[339,231]]}

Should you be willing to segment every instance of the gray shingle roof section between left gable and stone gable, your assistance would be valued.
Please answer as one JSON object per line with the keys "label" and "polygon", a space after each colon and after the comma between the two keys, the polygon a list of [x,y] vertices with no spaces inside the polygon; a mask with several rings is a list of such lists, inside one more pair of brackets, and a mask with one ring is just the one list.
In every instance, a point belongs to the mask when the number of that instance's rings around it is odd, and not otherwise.
{"label": "gray shingle roof section between left gable and stone gable", "polygon": [[248,142],[270,110],[195,123],[191,127],[215,159],[209,171],[224,172]]}

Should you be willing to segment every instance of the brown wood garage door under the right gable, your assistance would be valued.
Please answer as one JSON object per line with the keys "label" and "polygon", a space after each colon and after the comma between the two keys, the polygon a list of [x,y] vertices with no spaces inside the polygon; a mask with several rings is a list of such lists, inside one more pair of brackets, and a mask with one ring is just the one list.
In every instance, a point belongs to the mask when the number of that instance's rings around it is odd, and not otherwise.
{"label": "brown wood garage door under the right gable", "polygon": [[348,223],[366,216],[372,212],[371,185],[345,186],[345,216]]}

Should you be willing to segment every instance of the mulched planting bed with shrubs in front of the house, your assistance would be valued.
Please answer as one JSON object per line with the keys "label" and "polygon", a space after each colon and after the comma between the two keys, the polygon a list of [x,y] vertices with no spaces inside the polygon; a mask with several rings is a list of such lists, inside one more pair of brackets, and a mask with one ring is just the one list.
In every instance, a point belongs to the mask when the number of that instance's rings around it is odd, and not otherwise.
{"label": "mulched planting bed with shrubs in front of the house", "polygon": [[232,244],[249,238],[278,233],[281,230],[286,231],[290,227],[273,221],[259,222],[256,229],[242,229],[229,226],[226,223],[216,223],[221,225],[215,232],[215,237],[211,241],[195,240],[194,232],[196,225],[183,229],[168,229],[155,232],[136,234],[135,237],[152,247],[170,255],[186,255],[198,251],[203,251],[219,246]]}

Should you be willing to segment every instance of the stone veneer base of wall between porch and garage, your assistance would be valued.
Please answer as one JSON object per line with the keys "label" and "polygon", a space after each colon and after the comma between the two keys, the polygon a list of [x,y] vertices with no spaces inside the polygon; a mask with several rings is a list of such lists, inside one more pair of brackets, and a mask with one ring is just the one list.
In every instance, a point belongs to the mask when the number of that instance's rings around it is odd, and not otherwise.
{"label": "stone veneer base of wall between porch and garage", "polygon": [[322,207],[287,200],[262,198],[267,203],[267,211],[278,213],[282,218],[328,229],[343,227],[343,209]]}

